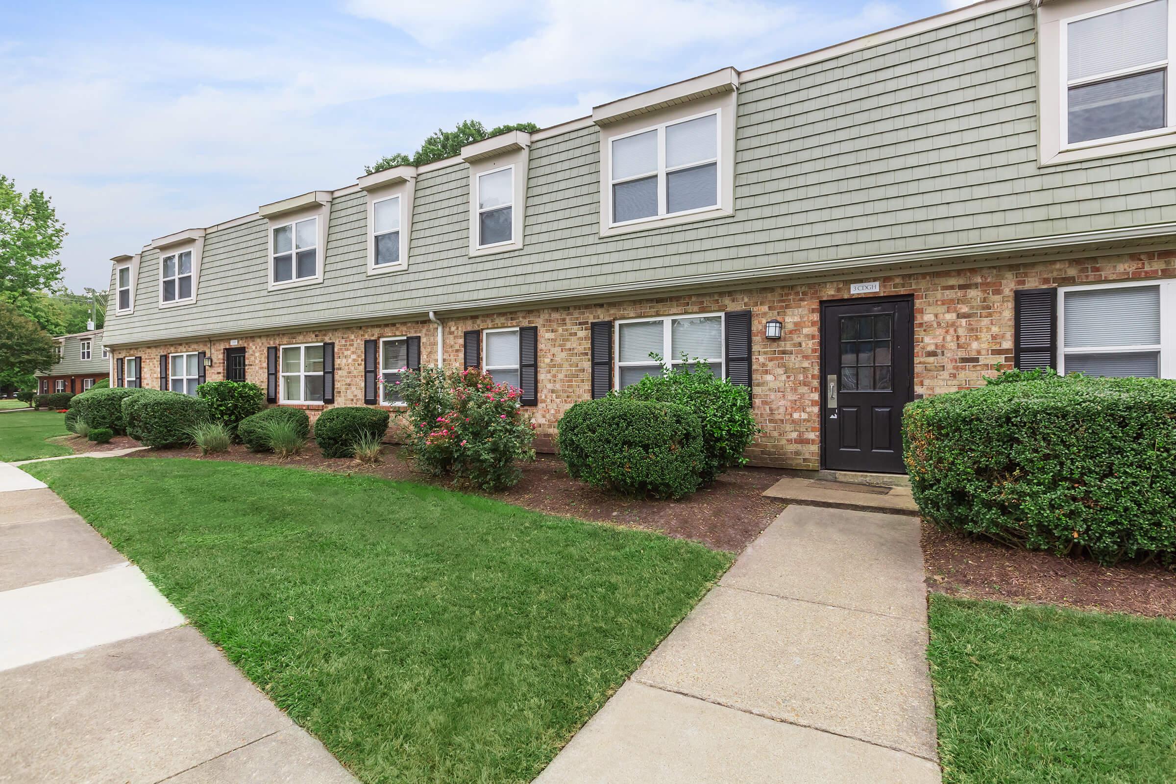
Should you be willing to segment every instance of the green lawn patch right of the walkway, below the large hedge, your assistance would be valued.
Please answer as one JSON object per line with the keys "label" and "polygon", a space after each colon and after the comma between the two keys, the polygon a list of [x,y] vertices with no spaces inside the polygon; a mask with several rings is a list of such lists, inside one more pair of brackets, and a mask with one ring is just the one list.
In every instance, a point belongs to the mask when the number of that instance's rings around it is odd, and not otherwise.
{"label": "green lawn patch right of the walkway, below the large hedge", "polygon": [[946,784],[1176,782],[1176,623],[933,596]]}

